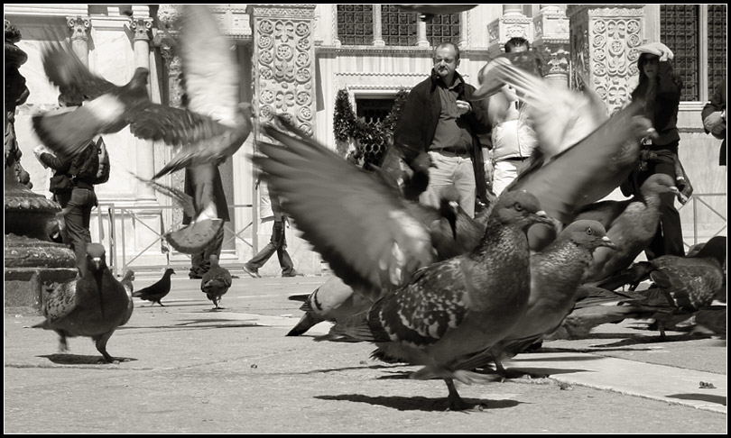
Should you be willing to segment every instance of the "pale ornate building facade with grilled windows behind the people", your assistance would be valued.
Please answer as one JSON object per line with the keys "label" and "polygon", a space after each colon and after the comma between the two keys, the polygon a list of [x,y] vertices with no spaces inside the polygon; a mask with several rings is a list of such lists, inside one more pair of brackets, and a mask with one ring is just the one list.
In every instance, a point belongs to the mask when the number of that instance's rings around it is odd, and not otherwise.
{"label": "pale ornate building facade with grilled windows behind the people", "polygon": [[[458,43],[458,71],[477,85],[477,72],[522,36],[544,61],[545,78],[556,87],[576,87],[579,78],[601,96],[607,111],[627,102],[637,82],[634,48],[662,41],[675,52],[686,83],[680,106],[680,159],[695,187],[693,205],[681,209],[685,241],[693,244],[726,226],[726,168],[718,166],[720,141],[705,134],[700,110],[709,90],[726,78],[726,5],[477,5],[430,23],[396,5],[212,5],[231,41],[241,71],[241,100],[252,102],[260,122],[285,112],[305,132],[333,149],[333,113],[338,90],[346,90],[360,115],[387,112],[393,96],[426,78],[432,50]],[[180,59],[171,43],[179,12],[174,5],[5,5],[5,19],[23,35],[28,54],[21,74],[30,96],[18,108],[15,131],[31,174],[33,191],[48,193],[50,171],[32,158],[40,143],[31,116],[57,105],[58,90],[46,78],[44,41],[70,41],[91,71],[125,84],[134,68],[149,68],[154,102],[180,105]],[[232,222],[222,252],[224,264],[243,263],[269,239],[266,204],[255,187],[254,134],[221,166]],[[161,234],[180,226],[180,212],[130,172],[150,178],[174,151],[162,142],[134,138],[128,129],[105,136],[112,176],[97,187],[100,206],[92,236],[113,254],[117,273],[186,265]],[[182,172],[163,181],[182,186]],[[621,195],[619,195],[621,196]],[[319,256],[287,234],[297,269],[319,274]],[[262,269],[276,273],[276,262]]]}

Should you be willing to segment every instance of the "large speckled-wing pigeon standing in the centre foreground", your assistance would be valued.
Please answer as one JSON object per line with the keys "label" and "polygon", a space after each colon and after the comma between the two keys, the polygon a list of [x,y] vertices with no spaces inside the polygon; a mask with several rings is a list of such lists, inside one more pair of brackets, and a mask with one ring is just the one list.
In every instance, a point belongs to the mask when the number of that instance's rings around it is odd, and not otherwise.
{"label": "large speckled-wing pigeon standing in the centre foreground", "polygon": [[522,190],[501,196],[472,251],[420,269],[366,312],[333,325],[330,335],[375,342],[423,365],[412,379],[444,379],[450,409],[474,407],[459,397],[454,379],[482,379],[458,364],[503,339],[524,314],[531,290],[526,233],[541,223],[552,224],[535,196]]}

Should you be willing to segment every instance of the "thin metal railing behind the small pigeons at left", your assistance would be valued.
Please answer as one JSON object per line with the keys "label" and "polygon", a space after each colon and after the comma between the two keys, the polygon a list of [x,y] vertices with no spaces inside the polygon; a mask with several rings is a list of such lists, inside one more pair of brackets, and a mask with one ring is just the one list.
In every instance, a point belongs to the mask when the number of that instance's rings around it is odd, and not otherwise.
{"label": "thin metal railing behind the small pigeons at left", "polygon": [[[236,204],[236,205],[228,205],[228,210],[231,212],[232,210],[241,209],[241,208],[253,208],[253,205],[251,204]],[[160,217],[160,231],[155,229],[153,226],[150,226],[147,224],[142,218],[139,217],[140,211],[159,211],[159,217]],[[97,215],[97,223],[98,223],[98,234],[99,234],[99,242],[105,242],[105,233],[104,233],[104,215],[105,211],[108,215],[108,233],[106,235],[106,244],[109,248],[109,267],[112,269],[112,272],[115,275],[119,275],[122,272],[125,272],[126,269],[133,266],[135,260],[139,260],[143,254],[147,251],[149,251],[153,246],[156,244],[161,245],[161,252],[167,253],[166,257],[166,263],[165,265],[151,265],[151,264],[145,264],[142,265],[144,269],[162,269],[165,267],[171,266],[171,258],[170,253],[172,250],[169,248],[167,242],[165,241],[165,238],[163,237],[165,233],[171,230],[177,230],[182,226],[182,215],[180,215],[180,220],[174,221],[170,224],[170,226],[165,226],[165,219],[164,219],[164,211],[165,210],[180,210],[180,207],[174,206],[174,205],[155,205],[153,207],[149,205],[143,205],[143,206],[117,206],[115,204],[99,204],[96,209],[96,215]],[[233,217],[233,216],[232,216]],[[120,221],[119,226],[119,235],[117,235],[117,219]],[[128,251],[128,248],[126,246],[126,226],[125,221],[129,219],[132,221],[132,226],[134,227],[135,224],[142,224],[144,228],[149,230],[151,233],[153,233],[154,239],[153,242],[149,243],[147,246],[145,246],[141,250],[137,251]],[[224,230],[227,230],[229,233],[231,233],[227,238],[224,238],[224,241],[222,243],[222,247],[226,248],[228,242],[234,242],[236,239],[240,240],[241,242],[244,242],[246,245],[248,245],[250,248],[253,249],[254,253],[258,250],[257,249],[257,239],[256,236],[256,224],[255,221],[251,221],[248,224],[246,224],[242,229],[236,231],[235,229],[231,228],[229,223],[224,223]],[[247,241],[243,237],[243,233],[245,233],[246,230],[249,228],[252,228],[252,239],[251,242]],[[117,255],[119,252],[121,252],[121,259],[120,262],[117,263]],[[130,252],[129,258],[127,252]],[[190,254],[185,254],[182,252],[175,252],[176,254],[180,254],[182,256],[187,256],[190,258]]]}

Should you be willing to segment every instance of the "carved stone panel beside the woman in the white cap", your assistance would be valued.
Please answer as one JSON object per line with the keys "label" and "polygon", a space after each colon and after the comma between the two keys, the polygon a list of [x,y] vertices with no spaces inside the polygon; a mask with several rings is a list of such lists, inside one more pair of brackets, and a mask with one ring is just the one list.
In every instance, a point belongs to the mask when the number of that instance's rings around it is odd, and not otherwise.
{"label": "carved stone panel beside the woman in the white cap", "polygon": [[[583,80],[606,102],[609,114],[636,85],[635,48],[643,43],[643,5],[569,5],[571,87]],[[634,83],[633,83],[634,80]]]}

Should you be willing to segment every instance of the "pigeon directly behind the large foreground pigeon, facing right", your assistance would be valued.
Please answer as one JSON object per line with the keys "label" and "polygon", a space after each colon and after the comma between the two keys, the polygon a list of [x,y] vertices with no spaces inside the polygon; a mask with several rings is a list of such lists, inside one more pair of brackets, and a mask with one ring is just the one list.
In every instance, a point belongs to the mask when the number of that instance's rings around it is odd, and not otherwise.
{"label": "pigeon directly behind the large foreground pigeon, facing right", "polygon": [[543,251],[531,256],[531,297],[520,322],[488,351],[471,358],[467,368],[484,366],[492,360],[502,375],[507,370],[504,358],[528,350],[541,342],[544,334],[554,332],[571,313],[577,298],[577,288],[583,282],[594,261],[591,257],[599,247],[615,248],[606,237],[602,224],[581,220],[569,224]]}

